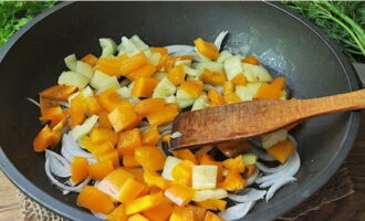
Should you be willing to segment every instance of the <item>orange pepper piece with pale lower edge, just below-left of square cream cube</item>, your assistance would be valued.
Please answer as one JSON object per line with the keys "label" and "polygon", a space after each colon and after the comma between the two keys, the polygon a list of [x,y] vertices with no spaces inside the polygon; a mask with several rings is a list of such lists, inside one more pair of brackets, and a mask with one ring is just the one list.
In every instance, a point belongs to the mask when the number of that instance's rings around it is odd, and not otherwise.
{"label": "orange pepper piece with pale lower edge, just below-left of square cream cube", "polygon": [[175,204],[184,207],[191,201],[194,190],[189,187],[173,186],[165,191],[165,197]]}

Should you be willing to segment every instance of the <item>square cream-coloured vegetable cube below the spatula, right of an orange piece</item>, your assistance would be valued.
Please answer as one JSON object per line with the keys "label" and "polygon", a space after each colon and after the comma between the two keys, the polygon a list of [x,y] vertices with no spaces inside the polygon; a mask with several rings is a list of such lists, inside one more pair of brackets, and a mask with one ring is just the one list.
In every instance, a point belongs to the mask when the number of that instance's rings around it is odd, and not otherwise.
{"label": "square cream-coloured vegetable cube below the spatula, right of an orange piece", "polygon": [[218,166],[197,165],[192,167],[194,189],[216,189]]}

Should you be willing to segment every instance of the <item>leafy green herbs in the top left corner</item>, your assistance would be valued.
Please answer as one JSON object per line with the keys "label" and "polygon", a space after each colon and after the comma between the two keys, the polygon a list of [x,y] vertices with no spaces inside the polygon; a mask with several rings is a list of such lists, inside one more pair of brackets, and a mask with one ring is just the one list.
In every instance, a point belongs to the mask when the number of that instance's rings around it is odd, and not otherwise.
{"label": "leafy green herbs in the top left corner", "polygon": [[54,4],[55,1],[0,0],[0,48],[15,31]]}

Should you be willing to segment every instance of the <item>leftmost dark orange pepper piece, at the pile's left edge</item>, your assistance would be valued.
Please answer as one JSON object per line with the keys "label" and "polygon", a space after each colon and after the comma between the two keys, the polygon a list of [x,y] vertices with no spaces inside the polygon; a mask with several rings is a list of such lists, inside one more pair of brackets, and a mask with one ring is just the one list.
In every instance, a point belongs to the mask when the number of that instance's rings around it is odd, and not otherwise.
{"label": "leftmost dark orange pepper piece, at the pile's left edge", "polygon": [[35,151],[44,151],[50,146],[59,144],[61,131],[51,130],[49,125],[45,125],[41,131],[38,133],[33,140]]}

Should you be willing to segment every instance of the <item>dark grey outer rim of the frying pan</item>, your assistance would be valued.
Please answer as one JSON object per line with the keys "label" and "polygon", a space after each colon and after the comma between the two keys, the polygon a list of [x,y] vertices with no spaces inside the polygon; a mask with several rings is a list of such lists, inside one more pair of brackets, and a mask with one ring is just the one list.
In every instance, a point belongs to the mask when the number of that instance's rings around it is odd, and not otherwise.
{"label": "dark grey outer rim of the frying pan", "polygon": [[[0,64],[8,53],[8,51],[13,46],[13,44],[18,41],[19,38],[21,38],[29,29],[31,29],[34,24],[36,24],[39,21],[44,19],[45,17],[52,14],[53,12],[72,4],[74,2],[62,2],[56,4],[55,7],[49,9],[48,11],[39,14],[36,18],[34,18],[32,21],[30,21],[28,24],[25,24],[22,29],[20,29],[0,50]],[[350,62],[345,59],[344,54],[337,49],[337,46],[332,43],[323,33],[322,31],[316,28],[313,23],[310,21],[303,19],[300,14],[296,12],[293,12],[289,9],[286,9],[283,4],[279,2],[267,2],[263,1],[263,3],[267,3],[278,10],[280,10],[283,13],[289,14],[296,21],[304,24],[307,29],[313,31],[317,36],[321,38],[321,40],[327,45],[327,48],[332,51],[332,53],[336,56],[338,60],[338,63],[342,65],[345,76],[347,77],[348,87],[351,91],[358,90],[359,83],[358,80],[356,80],[356,74],[354,72],[353,66],[350,64]],[[295,198],[290,198],[289,201],[286,201],[284,207],[282,204],[273,204],[270,209],[268,209],[265,212],[261,212],[259,214],[248,214],[247,219],[252,220],[262,220],[262,218],[271,220],[286,211],[290,211],[292,208],[298,206],[300,202],[302,202],[305,198],[310,197],[313,192],[315,192],[320,187],[322,187],[338,169],[338,167],[344,161],[345,157],[347,156],[348,151],[353,147],[353,144],[355,141],[355,138],[358,133],[361,123],[361,112],[352,112],[350,115],[350,123],[346,128],[346,136],[341,144],[341,149],[338,150],[336,157],[336,160],[332,159],[328,162],[328,167],[324,168],[322,172],[317,175],[320,179],[317,179],[316,182],[311,183],[311,186],[303,187],[301,190],[296,190],[294,194]],[[43,192],[41,189],[35,187],[31,181],[29,181],[8,159],[6,154],[3,152],[1,146],[0,146],[0,169],[4,172],[4,175],[25,194],[34,199],[36,202],[41,203],[45,208],[50,209],[51,211],[54,211],[62,217],[65,217],[67,219],[73,220],[101,220],[98,218],[95,218],[94,215],[82,212],[74,207],[71,207],[69,204],[65,204],[61,202],[60,200],[53,198],[52,196]],[[301,193],[299,193],[301,191]]]}

